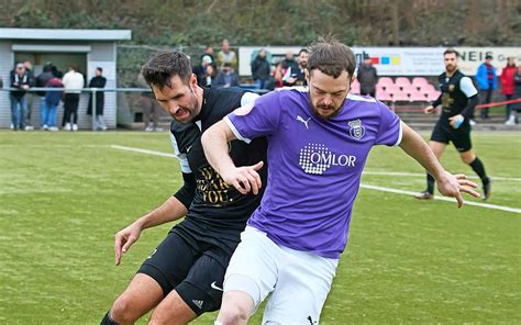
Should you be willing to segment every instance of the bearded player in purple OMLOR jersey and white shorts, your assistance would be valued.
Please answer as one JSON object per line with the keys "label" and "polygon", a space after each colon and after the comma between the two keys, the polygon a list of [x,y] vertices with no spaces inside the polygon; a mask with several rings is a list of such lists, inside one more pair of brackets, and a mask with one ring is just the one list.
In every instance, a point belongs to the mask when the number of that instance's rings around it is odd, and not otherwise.
{"label": "bearded player in purple OMLOR jersey and white shorts", "polygon": [[228,142],[268,139],[267,187],[230,261],[215,324],[246,324],[269,293],[263,324],[319,322],[375,145],[400,146],[458,206],[462,192],[479,197],[475,183],[445,171],[420,135],[385,104],[348,94],[354,69],[347,46],[318,43],[308,60],[309,89],[270,92],[203,133],[208,161],[243,193],[259,191],[258,164],[235,167]]}

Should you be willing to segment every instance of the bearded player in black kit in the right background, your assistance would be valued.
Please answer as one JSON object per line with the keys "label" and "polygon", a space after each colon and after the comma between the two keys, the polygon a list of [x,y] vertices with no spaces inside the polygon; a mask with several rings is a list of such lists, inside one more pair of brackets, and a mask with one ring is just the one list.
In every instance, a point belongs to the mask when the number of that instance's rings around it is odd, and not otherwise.
{"label": "bearded player in black kit in the right background", "polygon": [[[463,162],[469,165],[483,182],[484,200],[490,198],[490,178],[485,172],[485,166],[473,152],[470,142],[470,119],[474,108],[479,102],[478,91],[469,77],[457,69],[457,52],[447,48],[443,53],[445,72],[440,75],[441,96],[432,105],[424,109],[425,114],[433,113],[437,105],[442,105],[442,114],[431,135],[429,146],[436,155],[442,156],[446,145],[452,142],[459,153]],[[417,199],[431,200],[434,198],[434,178],[426,175],[426,190],[414,195]]]}

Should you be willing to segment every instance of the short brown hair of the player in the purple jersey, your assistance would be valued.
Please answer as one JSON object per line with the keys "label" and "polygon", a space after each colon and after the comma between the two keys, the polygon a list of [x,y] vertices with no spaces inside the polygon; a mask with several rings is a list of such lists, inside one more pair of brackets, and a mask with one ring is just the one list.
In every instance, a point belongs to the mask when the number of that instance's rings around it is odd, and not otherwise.
{"label": "short brown hair of the player in the purple jersey", "polygon": [[310,48],[308,58],[308,70],[311,74],[314,69],[339,78],[342,71],[347,71],[351,79],[356,68],[356,59],[353,51],[347,45],[337,41],[320,41]]}

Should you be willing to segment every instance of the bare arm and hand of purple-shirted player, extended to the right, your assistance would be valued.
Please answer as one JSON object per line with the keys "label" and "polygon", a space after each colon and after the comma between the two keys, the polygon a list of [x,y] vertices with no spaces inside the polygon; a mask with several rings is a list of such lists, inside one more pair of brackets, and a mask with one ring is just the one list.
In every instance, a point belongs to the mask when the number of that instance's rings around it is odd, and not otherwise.
{"label": "bare arm and hand of purple-shirted player, extended to the right", "polygon": [[440,193],[456,198],[458,208],[463,205],[462,192],[479,198],[479,193],[473,190],[477,184],[467,180],[465,175],[447,172],[423,138],[406,123],[400,123],[402,128],[400,147],[435,178]]}

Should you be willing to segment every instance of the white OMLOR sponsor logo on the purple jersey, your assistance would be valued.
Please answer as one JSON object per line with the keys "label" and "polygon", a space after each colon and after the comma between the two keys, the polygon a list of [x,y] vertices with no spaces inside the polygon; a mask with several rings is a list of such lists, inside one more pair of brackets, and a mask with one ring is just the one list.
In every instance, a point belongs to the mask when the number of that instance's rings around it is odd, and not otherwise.
{"label": "white OMLOR sponsor logo on the purple jersey", "polygon": [[331,166],[355,167],[356,156],[332,153],[323,144],[308,144],[300,149],[299,165],[306,173],[322,175]]}

